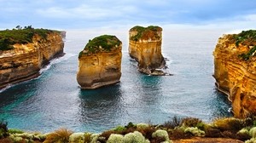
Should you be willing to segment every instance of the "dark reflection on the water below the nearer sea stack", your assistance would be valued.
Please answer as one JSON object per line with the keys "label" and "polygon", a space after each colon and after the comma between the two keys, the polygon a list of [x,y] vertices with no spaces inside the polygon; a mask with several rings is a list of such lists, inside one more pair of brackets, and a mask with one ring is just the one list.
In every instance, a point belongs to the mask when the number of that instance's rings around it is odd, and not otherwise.
{"label": "dark reflection on the water below the nearer sea stack", "polygon": [[113,118],[118,119],[124,112],[119,83],[94,90],[80,89],[79,99],[79,122],[84,126],[94,125],[91,126],[94,130],[113,128]]}

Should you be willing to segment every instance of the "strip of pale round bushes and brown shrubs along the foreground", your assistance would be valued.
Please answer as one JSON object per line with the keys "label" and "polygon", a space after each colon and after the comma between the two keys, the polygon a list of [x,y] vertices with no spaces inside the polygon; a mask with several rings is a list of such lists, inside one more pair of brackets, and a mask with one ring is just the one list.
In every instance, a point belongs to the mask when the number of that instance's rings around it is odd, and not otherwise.
{"label": "strip of pale round bushes and brown shrubs along the foreground", "polygon": [[7,123],[0,123],[0,142],[5,143],[172,143],[172,140],[195,137],[230,138],[250,143],[256,141],[256,118],[226,117],[215,119],[212,123],[204,123],[195,117],[172,117],[163,124],[128,123],[125,126],[106,130],[101,134],[73,133],[68,129],[58,129],[48,134],[26,133],[19,129],[7,129]]}

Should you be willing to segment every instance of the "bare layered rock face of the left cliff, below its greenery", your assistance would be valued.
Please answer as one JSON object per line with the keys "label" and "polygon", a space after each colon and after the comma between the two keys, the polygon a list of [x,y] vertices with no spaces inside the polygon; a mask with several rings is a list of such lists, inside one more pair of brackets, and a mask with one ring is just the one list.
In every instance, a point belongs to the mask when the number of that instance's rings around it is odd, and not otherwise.
{"label": "bare layered rock face of the left cliff, below its greenery", "polygon": [[49,60],[63,54],[64,43],[61,34],[55,31],[46,39],[34,36],[32,43],[16,43],[13,47],[0,51],[0,89],[10,83],[38,77],[40,69]]}

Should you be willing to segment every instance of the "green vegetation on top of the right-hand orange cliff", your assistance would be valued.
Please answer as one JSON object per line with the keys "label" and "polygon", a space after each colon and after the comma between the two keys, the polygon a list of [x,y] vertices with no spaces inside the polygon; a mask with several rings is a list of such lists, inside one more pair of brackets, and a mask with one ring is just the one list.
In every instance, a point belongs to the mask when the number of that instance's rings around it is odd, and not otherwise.
{"label": "green vegetation on top of the right-hand orange cliff", "polygon": [[241,31],[241,33],[234,35],[236,46],[247,45],[250,49],[247,53],[239,54],[242,60],[249,60],[256,52],[256,30]]}

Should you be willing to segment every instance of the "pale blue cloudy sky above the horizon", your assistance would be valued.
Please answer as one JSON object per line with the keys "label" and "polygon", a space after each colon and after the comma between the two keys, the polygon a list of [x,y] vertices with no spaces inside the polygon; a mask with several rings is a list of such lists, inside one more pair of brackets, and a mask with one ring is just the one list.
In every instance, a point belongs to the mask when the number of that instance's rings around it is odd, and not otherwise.
{"label": "pale blue cloudy sky above the horizon", "polygon": [[0,0],[0,29],[134,25],[256,29],[255,0]]}

